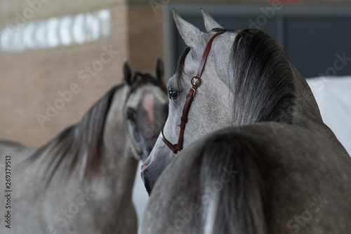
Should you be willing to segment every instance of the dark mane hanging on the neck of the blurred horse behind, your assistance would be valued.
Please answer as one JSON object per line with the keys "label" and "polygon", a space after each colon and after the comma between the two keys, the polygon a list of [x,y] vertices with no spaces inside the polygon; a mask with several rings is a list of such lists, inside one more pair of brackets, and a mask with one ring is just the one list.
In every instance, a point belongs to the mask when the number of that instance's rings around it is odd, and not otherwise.
{"label": "dark mane hanging on the neck of the blurred horse behind", "polygon": [[91,179],[97,173],[102,161],[100,156],[103,155],[103,131],[107,113],[114,93],[122,86],[123,84],[120,84],[110,89],[88,110],[79,123],[69,126],[27,159],[28,163],[39,160],[42,156],[45,157],[44,160],[48,160],[44,172],[47,175],[44,176],[46,186],[60,166],[64,167],[65,171],[62,174],[67,177],[81,164],[85,164],[83,179]]}

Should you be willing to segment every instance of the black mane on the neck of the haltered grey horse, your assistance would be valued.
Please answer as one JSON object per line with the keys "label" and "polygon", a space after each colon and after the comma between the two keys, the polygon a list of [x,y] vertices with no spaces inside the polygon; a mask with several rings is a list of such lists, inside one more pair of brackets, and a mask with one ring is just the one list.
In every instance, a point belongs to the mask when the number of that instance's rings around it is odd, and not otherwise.
{"label": "black mane on the neck of the haltered grey horse", "polygon": [[257,29],[239,31],[231,63],[235,125],[267,121],[291,124],[296,99],[293,70],[272,37]]}

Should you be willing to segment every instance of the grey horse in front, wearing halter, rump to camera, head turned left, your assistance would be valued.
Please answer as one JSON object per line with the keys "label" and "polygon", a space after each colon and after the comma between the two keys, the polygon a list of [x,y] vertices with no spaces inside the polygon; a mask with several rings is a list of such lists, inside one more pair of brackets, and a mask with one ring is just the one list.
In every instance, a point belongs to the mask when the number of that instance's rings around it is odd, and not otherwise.
{"label": "grey horse in front, wearing halter, rump to camera, head turned left", "polygon": [[351,159],[310,87],[262,30],[206,33],[173,11],[188,48],[168,81],[163,134],[180,132],[185,96],[214,39],[176,157],[159,136],[143,165],[142,233],[351,233]]}

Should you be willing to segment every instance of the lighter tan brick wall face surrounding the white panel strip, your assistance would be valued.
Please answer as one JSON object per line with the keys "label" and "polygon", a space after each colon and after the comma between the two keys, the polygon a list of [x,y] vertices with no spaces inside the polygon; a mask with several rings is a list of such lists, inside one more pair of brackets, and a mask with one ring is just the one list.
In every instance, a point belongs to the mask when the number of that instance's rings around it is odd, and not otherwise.
{"label": "lighter tan brick wall face surrounding the white panel strip", "polygon": [[[112,35],[108,39],[83,45],[61,46],[21,53],[0,52],[0,138],[19,141],[25,145],[39,146],[53,138],[65,127],[76,123],[84,113],[114,84],[122,79],[121,67],[128,58],[128,8],[119,1],[48,1],[32,20],[51,18],[102,8],[112,9]],[[80,3],[78,3],[80,2]],[[89,3],[87,3],[89,2]],[[23,3],[23,1],[22,1]],[[18,1],[1,1],[1,26],[15,22],[15,12],[25,4]],[[67,10],[69,9],[69,10]],[[86,79],[79,72],[100,60],[103,48],[119,53],[102,70]],[[106,59],[108,57],[105,57]],[[86,72],[83,74],[87,74]],[[37,114],[46,115],[46,103],[54,105],[60,99],[58,92],[69,91],[72,84],[77,90],[72,100],[58,110],[50,122],[39,124]],[[62,98],[61,98],[62,99]],[[62,104],[62,103],[57,103]],[[47,115],[46,115],[47,116]]]}

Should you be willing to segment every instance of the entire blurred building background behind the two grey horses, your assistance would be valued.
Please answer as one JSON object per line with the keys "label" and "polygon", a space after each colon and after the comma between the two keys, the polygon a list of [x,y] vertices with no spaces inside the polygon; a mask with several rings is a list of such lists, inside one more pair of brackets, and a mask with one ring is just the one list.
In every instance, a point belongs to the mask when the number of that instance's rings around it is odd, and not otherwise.
{"label": "entire blurred building background behind the two grey horses", "polygon": [[[200,8],[223,27],[270,34],[304,77],[319,77],[310,86],[351,150],[350,0],[0,0],[0,138],[43,145],[121,82],[126,61],[153,72],[163,58],[168,79],[185,48],[172,8],[203,31]],[[58,103],[72,84],[80,90]]]}

